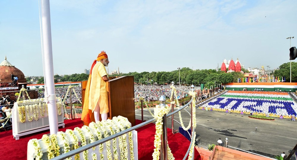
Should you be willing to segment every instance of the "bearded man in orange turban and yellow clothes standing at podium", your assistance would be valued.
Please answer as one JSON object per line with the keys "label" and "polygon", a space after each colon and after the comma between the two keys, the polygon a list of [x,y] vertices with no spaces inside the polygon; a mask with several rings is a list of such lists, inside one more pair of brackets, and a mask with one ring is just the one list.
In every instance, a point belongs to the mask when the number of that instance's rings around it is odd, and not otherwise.
{"label": "bearded man in orange turban and yellow clothes standing at podium", "polygon": [[105,51],[101,51],[91,66],[81,116],[81,120],[84,121],[85,125],[92,121],[99,121],[99,114],[101,114],[102,120],[107,120],[108,118],[109,107],[106,81],[110,79],[105,69],[108,63],[107,54]]}

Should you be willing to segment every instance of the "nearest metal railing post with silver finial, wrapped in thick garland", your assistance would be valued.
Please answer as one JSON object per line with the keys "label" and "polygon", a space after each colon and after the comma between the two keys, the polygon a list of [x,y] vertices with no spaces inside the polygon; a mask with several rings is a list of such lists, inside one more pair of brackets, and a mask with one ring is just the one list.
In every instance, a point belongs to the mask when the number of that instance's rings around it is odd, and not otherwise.
{"label": "nearest metal railing post with silver finial, wrapped in thick garland", "polygon": [[[164,95],[161,95],[161,97],[159,98],[160,104],[159,107],[166,107],[165,104],[165,97]],[[160,148],[160,159],[161,160],[167,160],[167,114],[163,115],[162,121],[163,121],[163,125],[162,125],[162,137],[161,137],[161,148]]]}

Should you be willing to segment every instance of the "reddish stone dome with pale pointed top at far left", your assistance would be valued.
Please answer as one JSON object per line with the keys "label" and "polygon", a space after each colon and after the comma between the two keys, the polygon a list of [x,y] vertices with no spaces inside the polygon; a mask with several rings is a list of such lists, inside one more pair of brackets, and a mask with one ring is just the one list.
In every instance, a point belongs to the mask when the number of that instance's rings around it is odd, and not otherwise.
{"label": "reddish stone dome with pale pointed top at far left", "polygon": [[11,75],[18,77],[18,82],[25,83],[25,75],[22,71],[7,61],[6,56],[3,62],[0,63],[0,82],[12,82]]}

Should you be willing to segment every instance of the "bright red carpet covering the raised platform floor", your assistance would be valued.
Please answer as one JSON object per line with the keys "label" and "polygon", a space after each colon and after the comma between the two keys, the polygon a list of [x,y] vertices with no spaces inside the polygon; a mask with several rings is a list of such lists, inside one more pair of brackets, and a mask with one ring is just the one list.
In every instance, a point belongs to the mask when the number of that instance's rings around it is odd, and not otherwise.
{"label": "bright red carpet covering the raised platform floor", "polygon": [[[66,129],[74,129],[75,127],[82,127],[82,121],[80,119],[64,120],[65,128],[59,128],[59,131],[66,131]],[[140,120],[136,120],[136,123],[141,123]],[[149,124],[138,131],[138,159],[139,160],[151,160],[154,149],[154,134],[155,125]],[[187,140],[180,133],[172,134],[171,129],[168,131],[168,144],[173,153],[175,159],[183,159],[189,147],[189,140]],[[12,136],[12,130],[0,132],[1,146],[4,148],[1,155],[4,155],[5,159],[9,160],[24,160],[27,159],[27,144],[30,139],[41,139],[43,134],[49,134],[50,131],[42,131],[36,134],[30,134],[20,137],[19,140],[15,140]],[[200,155],[195,150],[195,159],[200,160]]]}

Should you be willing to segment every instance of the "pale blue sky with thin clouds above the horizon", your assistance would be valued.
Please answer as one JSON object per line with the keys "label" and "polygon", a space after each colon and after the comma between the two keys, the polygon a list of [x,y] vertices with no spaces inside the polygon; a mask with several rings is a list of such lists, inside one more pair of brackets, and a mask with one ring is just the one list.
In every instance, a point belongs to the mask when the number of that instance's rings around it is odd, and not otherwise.
{"label": "pale blue sky with thin clouds above the horizon", "polygon": [[[50,0],[54,73],[83,73],[100,51],[120,72],[255,68],[290,62],[296,0]],[[38,0],[0,1],[0,62],[43,76]]]}

